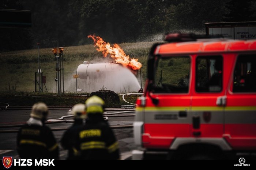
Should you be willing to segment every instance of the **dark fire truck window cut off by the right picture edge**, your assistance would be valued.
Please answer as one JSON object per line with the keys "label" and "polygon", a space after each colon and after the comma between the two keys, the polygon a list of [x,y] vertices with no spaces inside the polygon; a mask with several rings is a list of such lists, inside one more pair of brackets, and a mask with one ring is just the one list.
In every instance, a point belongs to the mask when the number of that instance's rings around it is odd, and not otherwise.
{"label": "dark fire truck window cut off by the right picture edge", "polygon": [[238,56],[233,92],[256,92],[256,54]]}

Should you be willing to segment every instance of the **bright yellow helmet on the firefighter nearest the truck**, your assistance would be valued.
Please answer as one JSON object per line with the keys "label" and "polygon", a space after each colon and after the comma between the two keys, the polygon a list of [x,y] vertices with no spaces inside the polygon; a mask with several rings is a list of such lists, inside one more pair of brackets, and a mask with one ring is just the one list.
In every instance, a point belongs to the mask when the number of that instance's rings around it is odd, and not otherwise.
{"label": "bright yellow helmet on the firefighter nearest the truck", "polygon": [[98,96],[91,96],[86,100],[86,112],[91,113],[103,113],[104,101]]}

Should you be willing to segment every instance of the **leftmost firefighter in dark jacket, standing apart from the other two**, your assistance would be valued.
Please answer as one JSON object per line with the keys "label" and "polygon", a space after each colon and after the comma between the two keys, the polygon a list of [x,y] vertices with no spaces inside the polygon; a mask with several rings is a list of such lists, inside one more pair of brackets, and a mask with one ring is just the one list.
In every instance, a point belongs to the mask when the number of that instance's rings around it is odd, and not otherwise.
{"label": "leftmost firefighter in dark jacket, standing apart from the other two", "polygon": [[33,105],[30,119],[19,129],[17,150],[20,158],[58,159],[59,146],[49,127],[45,126],[48,108],[44,103]]}

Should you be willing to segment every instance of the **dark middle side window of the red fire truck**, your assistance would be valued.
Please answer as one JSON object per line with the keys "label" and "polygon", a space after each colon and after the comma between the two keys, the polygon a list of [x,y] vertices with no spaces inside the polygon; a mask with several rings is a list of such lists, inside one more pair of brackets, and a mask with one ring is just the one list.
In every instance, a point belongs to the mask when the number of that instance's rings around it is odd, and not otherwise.
{"label": "dark middle side window of the red fire truck", "polygon": [[222,56],[199,56],[196,59],[196,91],[220,92],[223,73]]}

